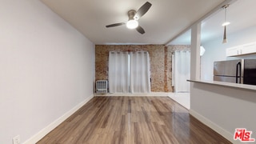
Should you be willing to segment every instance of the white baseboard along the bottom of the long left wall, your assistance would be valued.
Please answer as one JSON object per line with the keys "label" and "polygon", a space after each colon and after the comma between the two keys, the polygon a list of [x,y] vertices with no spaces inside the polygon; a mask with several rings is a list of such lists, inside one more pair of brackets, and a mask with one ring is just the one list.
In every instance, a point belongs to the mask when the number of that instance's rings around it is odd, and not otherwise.
{"label": "white baseboard along the bottom of the long left wall", "polygon": [[83,102],[80,102],[77,106],[74,106],[73,109],[69,110],[68,112],[66,112],[66,114],[63,114],[60,118],[50,123],[50,125],[40,130],[38,134],[34,134],[34,136],[26,140],[26,142],[24,142],[23,144],[34,144],[38,142],[40,139],[46,136],[46,134],[50,133],[51,130],[54,130],[54,128],[56,128],[58,125],[64,122],[66,118],[69,118],[72,114],[74,114],[74,112],[76,112],[78,109],[84,106],[87,102],[89,102],[91,98],[94,98],[94,95],[90,95],[89,98],[86,98]]}

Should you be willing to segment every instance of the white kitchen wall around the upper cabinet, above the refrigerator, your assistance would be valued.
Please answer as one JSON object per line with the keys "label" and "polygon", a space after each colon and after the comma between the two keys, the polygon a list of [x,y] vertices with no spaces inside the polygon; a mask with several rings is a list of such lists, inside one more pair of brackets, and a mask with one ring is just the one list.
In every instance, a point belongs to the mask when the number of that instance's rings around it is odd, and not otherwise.
{"label": "white kitchen wall around the upper cabinet, above the refrigerator", "polygon": [[[202,43],[202,46],[206,49],[205,54],[201,58],[202,80],[213,80],[214,61],[235,59],[234,57],[226,57],[226,48],[256,42],[256,26],[251,26],[246,30],[240,30],[234,34],[227,34],[227,38],[228,43],[226,44],[222,44],[222,36],[209,42]],[[256,58],[256,54],[236,58]]]}

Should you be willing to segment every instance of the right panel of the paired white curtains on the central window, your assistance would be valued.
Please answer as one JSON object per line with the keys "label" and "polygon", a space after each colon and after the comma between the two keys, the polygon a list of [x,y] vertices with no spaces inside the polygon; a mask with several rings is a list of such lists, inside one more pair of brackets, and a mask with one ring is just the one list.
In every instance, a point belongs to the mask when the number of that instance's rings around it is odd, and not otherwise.
{"label": "right panel of the paired white curtains on the central window", "polygon": [[150,57],[148,52],[130,52],[130,92],[150,93]]}

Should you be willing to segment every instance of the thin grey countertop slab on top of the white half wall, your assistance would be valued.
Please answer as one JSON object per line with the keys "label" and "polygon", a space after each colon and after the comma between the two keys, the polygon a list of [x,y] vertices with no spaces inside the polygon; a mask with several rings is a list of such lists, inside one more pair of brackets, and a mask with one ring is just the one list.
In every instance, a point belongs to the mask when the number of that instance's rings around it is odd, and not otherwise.
{"label": "thin grey countertop slab on top of the white half wall", "polygon": [[209,85],[217,85],[217,86],[227,86],[227,87],[233,87],[243,90],[254,90],[256,91],[256,86],[254,85],[246,85],[246,84],[238,84],[238,83],[231,83],[231,82],[218,82],[218,81],[202,81],[202,80],[187,80],[188,82],[199,82],[199,83],[205,83]]}

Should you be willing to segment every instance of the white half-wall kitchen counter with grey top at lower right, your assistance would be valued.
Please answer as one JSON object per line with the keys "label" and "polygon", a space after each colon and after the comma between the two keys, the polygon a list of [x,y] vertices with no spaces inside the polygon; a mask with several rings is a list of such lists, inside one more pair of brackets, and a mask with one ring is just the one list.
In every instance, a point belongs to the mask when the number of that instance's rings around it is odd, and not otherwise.
{"label": "white half-wall kitchen counter with grey top at lower right", "polygon": [[194,118],[233,143],[236,143],[236,128],[256,130],[256,86],[218,81],[188,81],[191,82],[190,114]]}

